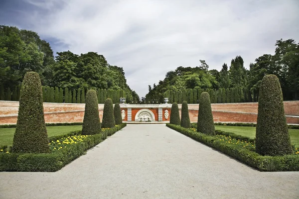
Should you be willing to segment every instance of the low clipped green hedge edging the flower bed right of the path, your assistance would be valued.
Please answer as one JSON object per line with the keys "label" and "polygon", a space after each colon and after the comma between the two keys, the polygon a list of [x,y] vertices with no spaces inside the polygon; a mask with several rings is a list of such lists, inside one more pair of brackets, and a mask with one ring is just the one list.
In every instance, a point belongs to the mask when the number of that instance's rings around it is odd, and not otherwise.
{"label": "low clipped green hedge edging the flower bed right of the path", "polygon": [[[243,162],[244,164],[247,164],[248,166],[258,169],[259,171],[299,171],[299,155],[262,156],[254,151],[242,148],[238,145],[220,142],[215,138],[215,136],[195,132],[191,129],[183,128],[174,124],[167,123],[166,126],[196,141],[221,151],[222,153],[229,155]],[[216,134],[231,136],[232,138],[244,141],[254,141],[254,139],[249,137],[219,130],[216,130]]]}

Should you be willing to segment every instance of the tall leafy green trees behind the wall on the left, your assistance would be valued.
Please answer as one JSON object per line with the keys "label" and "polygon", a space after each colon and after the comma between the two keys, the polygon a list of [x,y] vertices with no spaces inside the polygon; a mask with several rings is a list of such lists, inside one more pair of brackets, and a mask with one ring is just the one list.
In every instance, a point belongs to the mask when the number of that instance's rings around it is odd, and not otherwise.
{"label": "tall leafy green trees behind the wall on the left", "polygon": [[[27,71],[38,73],[42,86],[76,92],[80,88],[81,98],[73,96],[73,99],[81,103],[89,89],[123,90],[127,102],[139,102],[139,96],[127,84],[123,68],[109,65],[103,55],[66,51],[57,52],[54,59],[49,43],[36,32],[0,25],[0,100],[11,100],[12,92],[17,91]],[[61,101],[58,99],[51,102]]]}

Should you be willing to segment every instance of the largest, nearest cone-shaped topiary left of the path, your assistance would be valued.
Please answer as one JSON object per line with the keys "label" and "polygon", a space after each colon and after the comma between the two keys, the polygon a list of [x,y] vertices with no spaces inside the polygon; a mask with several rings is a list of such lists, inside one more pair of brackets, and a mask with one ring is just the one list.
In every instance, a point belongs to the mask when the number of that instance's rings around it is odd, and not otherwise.
{"label": "largest, nearest cone-shaped topiary left of the path", "polygon": [[40,78],[37,73],[28,72],[21,87],[12,151],[48,153],[50,152],[48,143]]}

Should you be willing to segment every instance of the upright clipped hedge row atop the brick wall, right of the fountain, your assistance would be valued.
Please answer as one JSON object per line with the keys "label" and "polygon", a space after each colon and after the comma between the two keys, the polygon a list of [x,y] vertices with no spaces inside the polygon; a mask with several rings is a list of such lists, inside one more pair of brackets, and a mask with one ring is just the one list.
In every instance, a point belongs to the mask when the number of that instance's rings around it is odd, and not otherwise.
{"label": "upright clipped hedge row atop the brick wall, right of the fountain", "polygon": [[234,103],[252,102],[252,96],[247,88],[220,88],[216,89],[186,89],[182,91],[167,90],[164,98],[168,98],[169,103],[198,103],[201,93],[207,92],[210,95],[211,103]]}

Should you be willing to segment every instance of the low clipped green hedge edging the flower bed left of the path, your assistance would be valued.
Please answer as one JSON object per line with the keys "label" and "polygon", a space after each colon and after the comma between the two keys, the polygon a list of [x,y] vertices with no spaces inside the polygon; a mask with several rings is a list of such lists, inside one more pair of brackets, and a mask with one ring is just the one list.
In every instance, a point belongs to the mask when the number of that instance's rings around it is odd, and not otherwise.
{"label": "low clipped green hedge edging the flower bed left of the path", "polygon": [[[0,153],[0,171],[22,171],[22,172],[55,172],[60,170],[65,165],[69,164],[74,159],[86,153],[86,150],[99,144],[118,130],[127,126],[122,123],[110,129],[102,131],[102,133],[91,135],[84,141],[77,144],[69,145],[60,151],[53,153]],[[81,131],[73,131],[67,135],[59,135],[49,137],[50,141],[55,141],[72,135],[79,135]]]}

